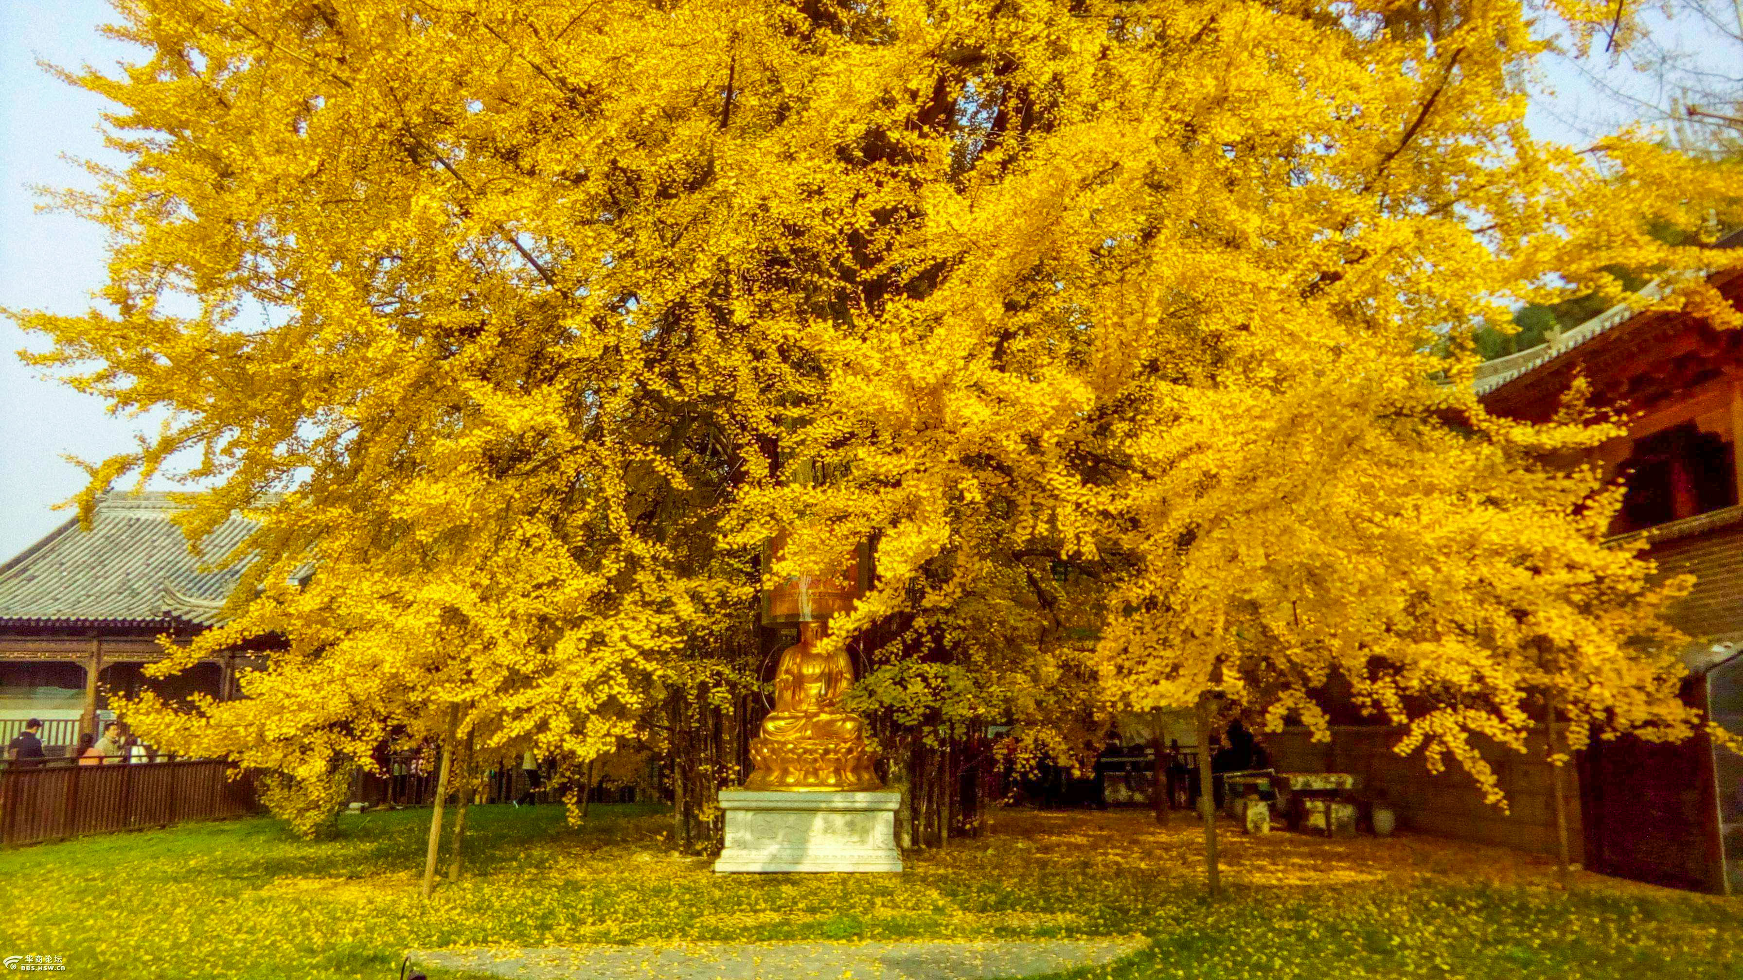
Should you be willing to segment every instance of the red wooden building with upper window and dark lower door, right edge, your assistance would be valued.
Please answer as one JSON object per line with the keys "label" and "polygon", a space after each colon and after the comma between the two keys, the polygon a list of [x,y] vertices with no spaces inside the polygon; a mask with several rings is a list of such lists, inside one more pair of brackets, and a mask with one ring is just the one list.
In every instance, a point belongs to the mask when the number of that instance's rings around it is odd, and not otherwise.
{"label": "red wooden building with upper window and dark lower door, right edge", "polygon": [[[1743,309],[1743,270],[1710,282]],[[1619,307],[1483,364],[1476,384],[1492,412],[1546,420],[1576,375],[1588,378],[1595,405],[1628,419],[1628,434],[1591,455],[1628,481],[1614,541],[1644,539],[1661,575],[1696,575],[1694,591],[1666,614],[1694,638],[1684,650],[1684,698],[1743,734],[1743,331]],[[1588,867],[1743,893],[1743,759],[1706,736],[1673,746],[1597,743],[1583,755]]]}

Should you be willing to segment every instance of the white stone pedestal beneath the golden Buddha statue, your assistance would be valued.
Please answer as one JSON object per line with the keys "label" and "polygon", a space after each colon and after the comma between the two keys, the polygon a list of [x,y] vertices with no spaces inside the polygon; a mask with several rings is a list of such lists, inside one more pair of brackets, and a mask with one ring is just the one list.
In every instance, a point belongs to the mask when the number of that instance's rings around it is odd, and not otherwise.
{"label": "white stone pedestal beneath the golden Buddha statue", "polygon": [[727,846],[715,872],[899,872],[899,802],[891,790],[720,790]]}

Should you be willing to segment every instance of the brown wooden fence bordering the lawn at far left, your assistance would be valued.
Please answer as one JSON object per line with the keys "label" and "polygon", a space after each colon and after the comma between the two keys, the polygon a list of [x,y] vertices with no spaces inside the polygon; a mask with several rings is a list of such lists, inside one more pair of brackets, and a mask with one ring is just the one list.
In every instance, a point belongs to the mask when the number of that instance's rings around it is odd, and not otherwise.
{"label": "brown wooden fence bordering the lawn at far left", "polygon": [[220,759],[0,771],[5,846],[258,811],[253,779],[232,779]]}

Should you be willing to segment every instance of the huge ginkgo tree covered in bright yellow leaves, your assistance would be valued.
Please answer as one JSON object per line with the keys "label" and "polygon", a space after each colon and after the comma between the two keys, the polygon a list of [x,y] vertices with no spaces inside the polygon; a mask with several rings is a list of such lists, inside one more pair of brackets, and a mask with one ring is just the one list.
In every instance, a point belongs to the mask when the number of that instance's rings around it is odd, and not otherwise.
{"label": "huge ginkgo tree covered in bright yellow leaves", "polygon": [[113,235],[105,307],[16,316],[173,419],[87,506],[193,452],[190,534],[258,516],[188,657],[288,645],[141,724],[312,785],[390,732],[586,759],[755,684],[709,650],[760,575],[861,541],[828,642],[901,724],[1316,722],[1335,675],[1492,788],[1469,738],[1518,745],[1534,691],[1576,739],[1694,722],[1666,593],[1550,466],[1607,429],[1469,385],[1476,326],[1605,265],[1738,321],[1699,246],[1733,164],[1523,124],[1543,19],[1612,5],[117,10],[141,59],[68,75],[127,157],[64,199]]}

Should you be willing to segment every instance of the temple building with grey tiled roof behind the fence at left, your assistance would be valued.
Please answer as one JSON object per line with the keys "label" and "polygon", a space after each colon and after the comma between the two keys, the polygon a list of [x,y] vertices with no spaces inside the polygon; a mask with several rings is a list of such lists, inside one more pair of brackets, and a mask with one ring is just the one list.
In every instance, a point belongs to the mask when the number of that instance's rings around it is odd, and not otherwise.
{"label": "temple building with grey tiled roof behind the fence at left", "polygon": [[220,621],[242,570],[209,563],[253,530],[230,518],[193,551],[171,520],[176,509],[167,493],[110,493],[91,530],[70,520],[0,565],[0,738],[42,718],[54,753],[110,717],[112,694],[232,696],[249,650],[162,680],[141,671],[164,659],[166,638],[187,643]]}

